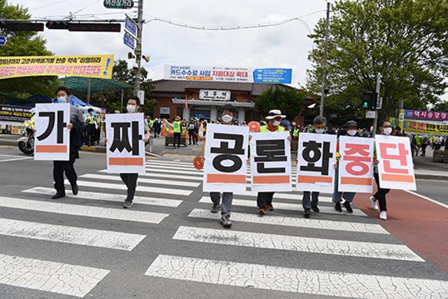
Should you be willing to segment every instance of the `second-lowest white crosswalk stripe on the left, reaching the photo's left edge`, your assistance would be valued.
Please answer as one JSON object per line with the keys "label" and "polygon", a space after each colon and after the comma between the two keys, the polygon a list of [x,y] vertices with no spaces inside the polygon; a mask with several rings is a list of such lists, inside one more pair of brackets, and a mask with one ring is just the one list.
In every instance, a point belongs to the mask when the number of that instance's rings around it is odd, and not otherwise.
{"label": "second-lowest white crosswalk stripe on the left, reaching the photo's left edge", "polygon": [[145,235],[0,218],[0,235],[132,251]]}

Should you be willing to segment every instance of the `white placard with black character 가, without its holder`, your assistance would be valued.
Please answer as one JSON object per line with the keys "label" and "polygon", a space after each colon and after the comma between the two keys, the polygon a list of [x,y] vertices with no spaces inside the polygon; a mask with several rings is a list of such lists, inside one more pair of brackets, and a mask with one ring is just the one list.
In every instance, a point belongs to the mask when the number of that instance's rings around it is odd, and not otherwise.
{"label": "white placard with black character \uac00, without its holder", "polygon": [[70,104],[36,104],[34,160],[68,161]]}

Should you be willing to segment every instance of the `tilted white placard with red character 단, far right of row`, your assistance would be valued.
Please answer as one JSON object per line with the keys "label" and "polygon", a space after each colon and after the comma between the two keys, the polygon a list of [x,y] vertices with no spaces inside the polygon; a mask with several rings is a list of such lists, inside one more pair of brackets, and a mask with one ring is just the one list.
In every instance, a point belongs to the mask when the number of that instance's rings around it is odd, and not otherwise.
{"label": "tilted white placard with red character \ub2e8, far right of row", "polygon": [[416,190],[409,138],[375,135],[379,186],[385,189]]}

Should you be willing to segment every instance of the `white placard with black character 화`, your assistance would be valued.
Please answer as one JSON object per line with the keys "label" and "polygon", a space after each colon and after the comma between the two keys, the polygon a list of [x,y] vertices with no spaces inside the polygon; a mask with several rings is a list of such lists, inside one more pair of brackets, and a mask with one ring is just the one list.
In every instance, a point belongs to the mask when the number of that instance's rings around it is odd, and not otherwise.
{"label": "white placard with black character \ud654", "polygon": [[297,151],[297,190],[333,192],[336,135],[301,133]]}

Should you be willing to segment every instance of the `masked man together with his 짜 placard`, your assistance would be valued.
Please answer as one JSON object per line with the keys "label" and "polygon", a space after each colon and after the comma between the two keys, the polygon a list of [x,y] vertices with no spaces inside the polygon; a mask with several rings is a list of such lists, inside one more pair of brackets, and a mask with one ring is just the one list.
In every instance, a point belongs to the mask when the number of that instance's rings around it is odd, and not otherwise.
{"label": "masked man together with his \uc9dc placard", "polygon": [[134,204],[135,189],[139,173],[144,174],[145,134],[149,127],[144,123],[139,97],[127,100],[127,113],[106,115],[107,172],[118,173],[127,187],[127,197],[123,208],[130,209]]}

